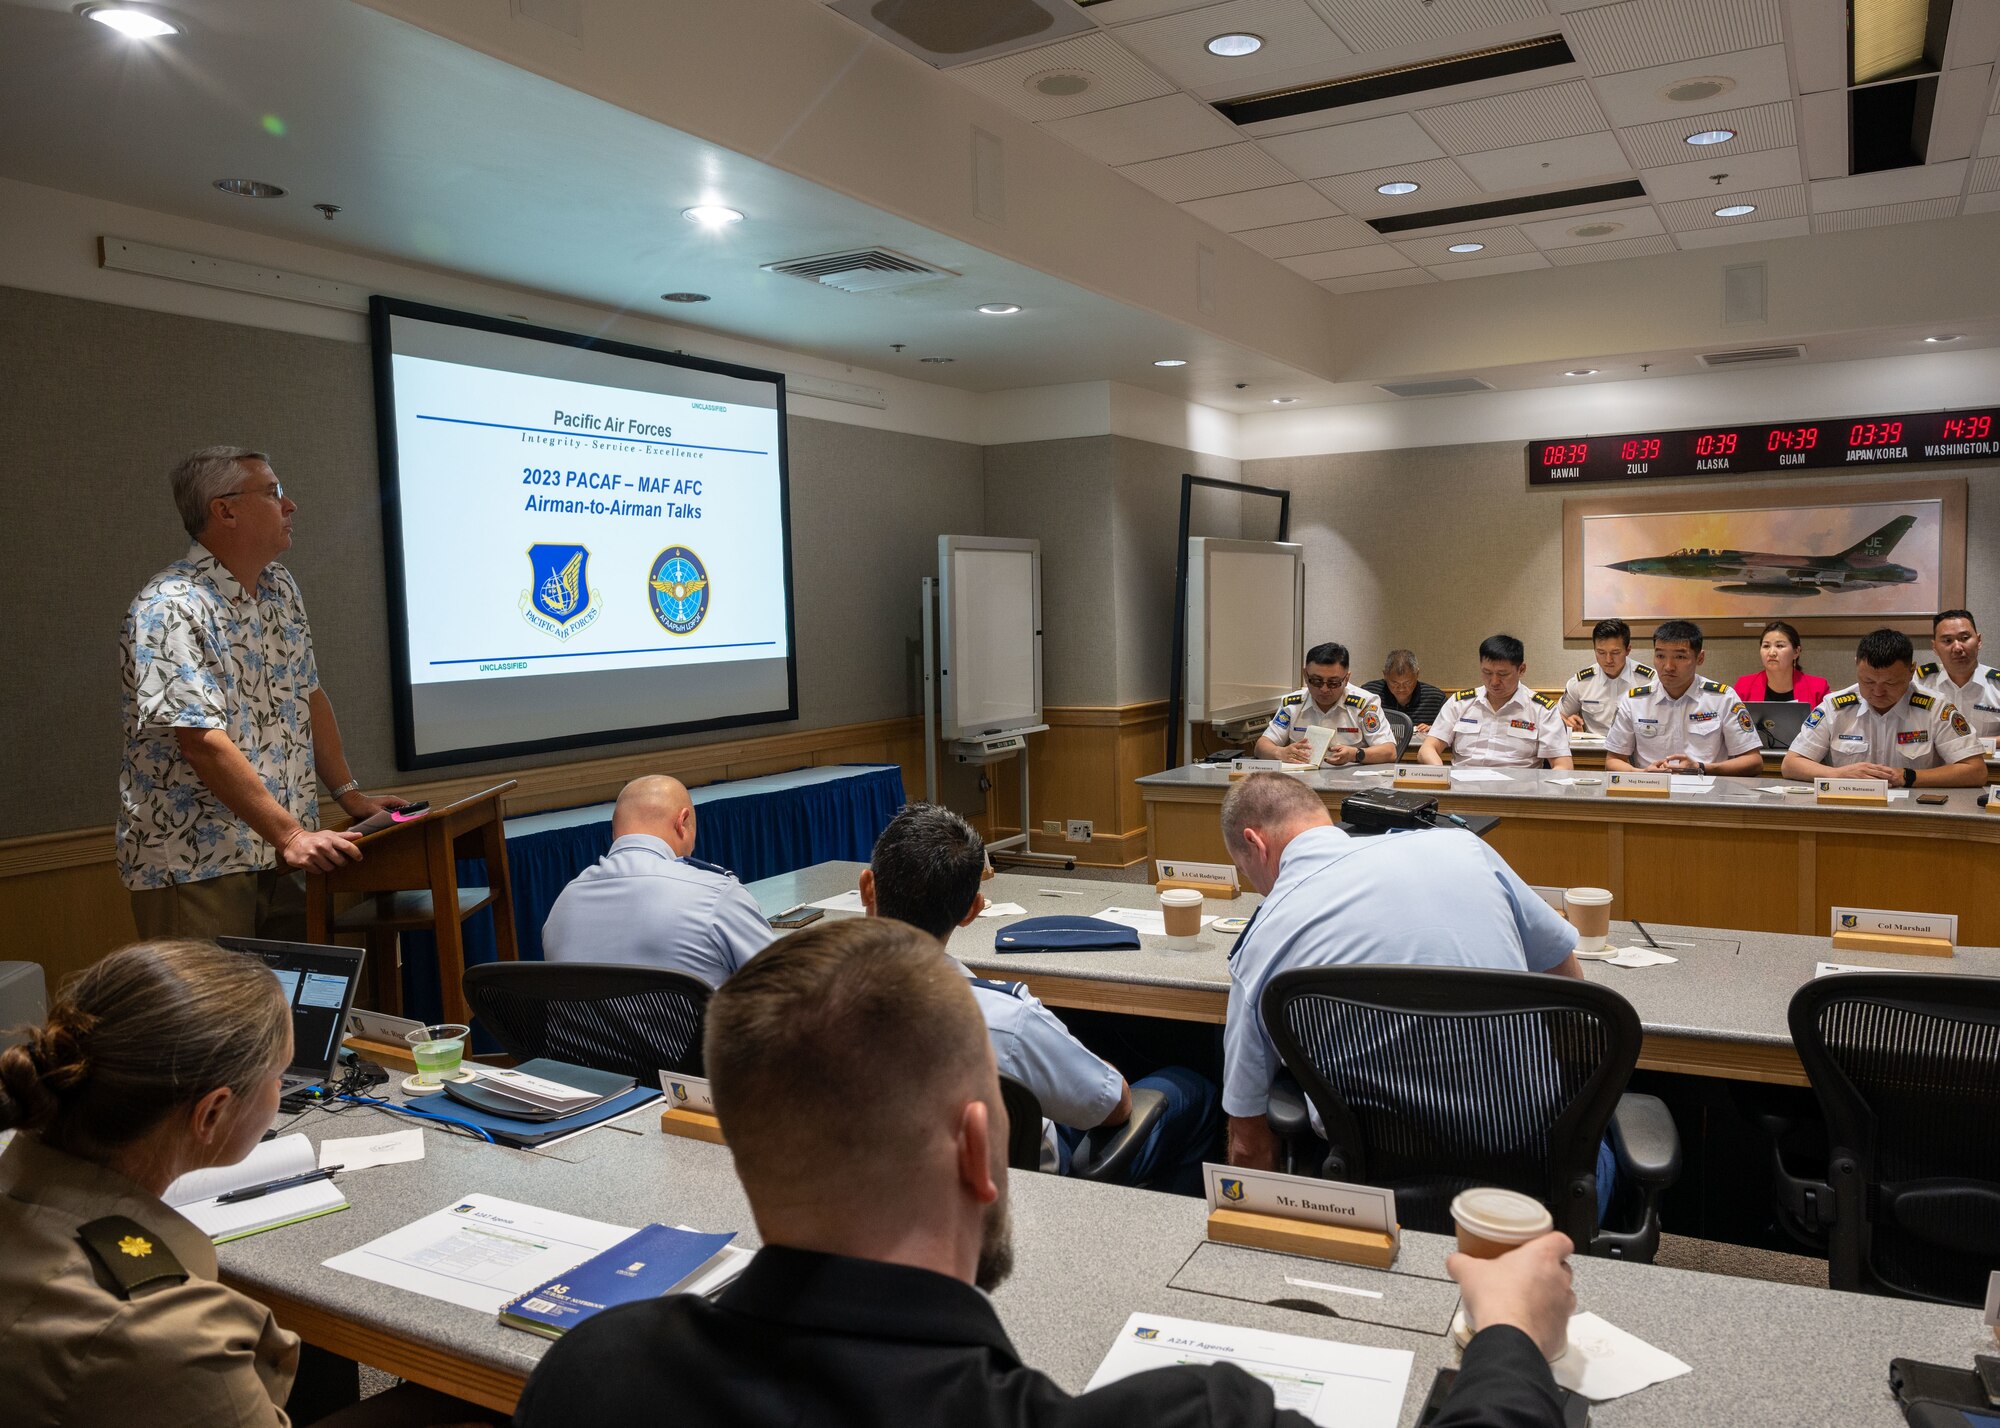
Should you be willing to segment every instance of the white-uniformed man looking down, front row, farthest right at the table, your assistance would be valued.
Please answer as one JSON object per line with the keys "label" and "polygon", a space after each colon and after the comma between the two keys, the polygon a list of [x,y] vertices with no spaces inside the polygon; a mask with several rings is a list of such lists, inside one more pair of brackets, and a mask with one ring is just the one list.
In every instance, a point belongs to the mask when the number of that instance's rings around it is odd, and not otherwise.
{"label": "white-uniformed man looking down, front row, farthest right at the table", "polygon": [[1874,630],[1854,650],[1856,680],[1834,690],[1784,754],[1786,778],[1886,778],[1892,788],[1978,788],[1986,758],[1950,700],[1916,688],[1902,630]]}

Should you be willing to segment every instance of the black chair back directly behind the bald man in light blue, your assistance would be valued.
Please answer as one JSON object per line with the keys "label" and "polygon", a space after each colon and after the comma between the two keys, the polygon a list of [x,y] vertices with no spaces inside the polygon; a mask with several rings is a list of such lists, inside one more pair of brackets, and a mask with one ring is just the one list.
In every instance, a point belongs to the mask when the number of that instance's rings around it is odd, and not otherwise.
{"label": "black chair back directly behind the bald man in light blue", "polygon": [[480,1026],[516,1060],[572,1066],[656,1084],[660,1072],[702,1074],[710,988],[682,972],[624,962],[486,962],[466,968]]}

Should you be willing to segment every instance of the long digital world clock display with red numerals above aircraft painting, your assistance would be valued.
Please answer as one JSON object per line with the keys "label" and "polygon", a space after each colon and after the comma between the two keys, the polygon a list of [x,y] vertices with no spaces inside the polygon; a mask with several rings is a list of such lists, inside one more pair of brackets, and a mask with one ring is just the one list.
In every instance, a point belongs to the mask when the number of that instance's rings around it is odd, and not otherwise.
{"label": "long digital world clock display with red numerals above aircraft painting", "polygon": [[2000,406],[1528,442],[1530,486],[2000,458]]}

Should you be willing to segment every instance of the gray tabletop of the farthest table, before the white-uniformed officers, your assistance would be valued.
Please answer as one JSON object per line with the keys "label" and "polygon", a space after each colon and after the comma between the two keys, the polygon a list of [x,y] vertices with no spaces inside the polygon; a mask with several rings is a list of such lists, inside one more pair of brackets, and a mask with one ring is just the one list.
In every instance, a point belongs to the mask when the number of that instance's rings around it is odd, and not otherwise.
{"label": "gray tabletop of the farthest table, before the white-uniformed officers", "polygon": [[[1736,808],[1750,810],[1762,808],[1766,812],[1786,812],[1810,808],[1820,814],[1856,814],[1864,818],[1932,818],[1956,824],[1986,826],[1986,820],[1994,820],[1992,828],[2000,832],[2000,816],[1988,814],[1980,808],[1978,798],[1984,788],[1926,788],[1924,792],[1944,794],[1944,804],[1918,804],[1916,794],[1908,798],[1894,798],[1882,806],[1868,804],[1840,804],[1836,808],[1822,808],[1812,798],[1812,784],[1790,784],[1798,790],[1792,794],[1768,794],[1766,788],[1784,786],[1786,780],[1760,774],[1758,778],[1718,778],[1714,788],[1702,794],[1674,794],[1672,800],[1656,798],[1608,798],[1604,792],[1604,774],[1596,770],[1550,770],[1550,768],[1494,768],[1480,770],[1502,774],[1502,782],[1462,782],[1452,780],[1454,800],[1552,800],[1552,802],[1614,802],[1620,806],[1638,808],[1658,808],[1662,802],[1670,802],[1676,808]],[[1390,778],[1386,776],[1362,776],[1346,768],[1318,768],[1310,774],[1296,774],[1296,778],[1306,780],[1312,788],[1320,792],[1354,792],[1360,788],[1388,788]],[[1558,784],[1558,778],[1584,778],[1590,782],[1582,784]],[[1228,768],[1210,764],[1188,764],[1184,768],[1168,768],[1162,774],[1146,774],[1138,780],[1138,786],[1146,792],[1180,792],[1180,790],[1228,790],[1230,774]],[[1900,792],[1900,790],[1898,790]]]}

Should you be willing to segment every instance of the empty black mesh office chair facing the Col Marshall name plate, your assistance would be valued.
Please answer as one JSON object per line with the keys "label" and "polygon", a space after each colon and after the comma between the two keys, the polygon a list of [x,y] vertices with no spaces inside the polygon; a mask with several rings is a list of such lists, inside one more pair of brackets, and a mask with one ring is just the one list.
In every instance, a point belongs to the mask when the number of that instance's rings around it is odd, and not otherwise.
{"label": "empty black mesh office chair facing the Col Marshall name plate", "polygon": [[1836,1290],[1976,1306],[2000,1268],[2000,978],[1850,972],[1792,994],[1792,1044],[1826,1118]]}

